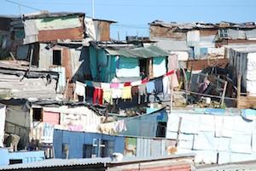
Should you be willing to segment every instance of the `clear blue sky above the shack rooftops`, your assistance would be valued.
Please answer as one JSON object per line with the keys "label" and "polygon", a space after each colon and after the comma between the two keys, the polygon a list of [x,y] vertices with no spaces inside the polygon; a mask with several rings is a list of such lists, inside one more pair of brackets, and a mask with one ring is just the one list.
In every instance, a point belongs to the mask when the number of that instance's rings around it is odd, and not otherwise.
{"label": "clear blue sky above the shack rooftops", "polygon": [[[12,0],[35,9],[51,12],[84,12],[92,16],[92,0]],[[148,36],[148,23],[153,20],[166,22],[232,22],[255,21],[256,0],[94,0],[95,18],[115,20],[111,37]],[[20,14],[19,7],[0,0],[0,14]],[[21,13],[34,9],[21,7]]]}

